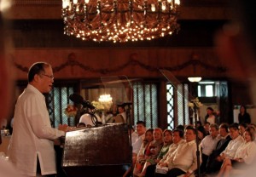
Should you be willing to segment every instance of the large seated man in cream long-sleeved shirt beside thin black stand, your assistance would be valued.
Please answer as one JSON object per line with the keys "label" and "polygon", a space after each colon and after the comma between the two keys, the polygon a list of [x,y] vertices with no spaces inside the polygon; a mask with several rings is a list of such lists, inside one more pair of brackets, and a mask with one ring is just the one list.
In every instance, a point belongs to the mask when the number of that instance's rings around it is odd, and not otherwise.
{"label": "large seated man in cream long-sleeved shirt beside thin black stand", "polygon": [[[170,157],[168,162],[169,170],[167,174],[155,174],[155,176],[177,177],[183,174],[183,177],[189,177],[191,174],[193,174],[197,168],[197,148],[195,138],[195,128],[192,126],[187,126],[185,128],[186,142],[180,146],[177,146],[177,150],[172,153],[172,157]],[[199,158],[201,163],[201,156]]]}

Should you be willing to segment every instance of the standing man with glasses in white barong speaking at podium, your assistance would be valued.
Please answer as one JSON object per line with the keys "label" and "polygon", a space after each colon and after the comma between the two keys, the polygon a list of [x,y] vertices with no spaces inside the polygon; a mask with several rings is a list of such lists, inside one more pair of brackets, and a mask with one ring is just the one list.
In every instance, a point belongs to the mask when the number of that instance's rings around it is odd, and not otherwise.
{"label": "standing man with glasses in white barong speaking at podium", "polygon": [[55,176],[55,139],[64,136],[67,125],[52,128],[44,94],[53,87],[51,66],[38,62],[28,71],[28,85],[15,106],[14,129],[9,144],[9,159],[26,176],[41,173]]}

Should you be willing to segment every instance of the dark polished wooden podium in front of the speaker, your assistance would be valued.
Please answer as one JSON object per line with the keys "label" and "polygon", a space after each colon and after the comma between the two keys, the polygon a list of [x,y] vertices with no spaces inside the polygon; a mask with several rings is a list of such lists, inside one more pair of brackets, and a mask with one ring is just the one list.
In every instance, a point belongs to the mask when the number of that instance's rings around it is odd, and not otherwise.
{"label": "dark polished wooden podium in front of the speaker", "polygon": [[67,132],[62,168],[68,177],[117,177],[131,165],[131,147],[125,123]]}

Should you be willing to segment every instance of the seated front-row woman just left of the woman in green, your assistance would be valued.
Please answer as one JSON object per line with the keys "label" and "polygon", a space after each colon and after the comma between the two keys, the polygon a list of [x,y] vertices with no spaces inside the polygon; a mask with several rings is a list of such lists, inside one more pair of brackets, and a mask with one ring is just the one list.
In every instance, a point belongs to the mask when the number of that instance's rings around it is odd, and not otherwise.
{"label": "seated front-row woman just left of the woman in green", "polygon": [[[146,170],[149,165],[158,163],[157,157],[160,155],[160,151],[164,145],[163,142],[163,131],[161,128],[154,128],[153,132],[154,140],[149,144],[149,155],[146,157],[146,162],[143,164],[143,170],[140,174],[135,174],[139,177],[145,176]],[[172,140],[169,137],[169,141]]]}

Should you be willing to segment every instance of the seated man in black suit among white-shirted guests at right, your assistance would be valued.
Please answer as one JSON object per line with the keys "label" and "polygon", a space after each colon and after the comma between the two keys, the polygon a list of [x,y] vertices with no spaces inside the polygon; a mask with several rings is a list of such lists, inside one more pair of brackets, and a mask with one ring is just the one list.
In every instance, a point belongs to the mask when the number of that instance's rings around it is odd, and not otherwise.
{"label": "seated man in black suit among white-shirted guests at right", "polygon": [[213,174],[217,172],[220,167],[222,162],[218,161],[218,156],[224,149],[228,146],[230,143],[231,137],[229,134],[229,124],[228,123],[221,123],[219,126],[219,135],[220,135],[220,140],[218,140],[217,146],[215,149],[213,149],[212,153],[208,157],[207,161],[207,174]]}

